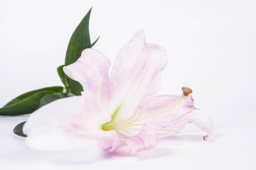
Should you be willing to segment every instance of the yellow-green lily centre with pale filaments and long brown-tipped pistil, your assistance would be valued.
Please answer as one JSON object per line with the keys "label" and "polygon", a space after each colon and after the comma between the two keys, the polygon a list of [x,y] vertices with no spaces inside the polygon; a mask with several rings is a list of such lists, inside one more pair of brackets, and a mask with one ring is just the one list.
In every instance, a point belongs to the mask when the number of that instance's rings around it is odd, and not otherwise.
{"label": "yellow-green lily centre with pale filaments and long brown-tipped pistil", "polygon": [[[145,119],[149,119],[149,118],[152,118],[152,117],[155,117],[155,116],[158,116],[164,112],[166,112],[167,110],[171,109],[174,105],[176,105],[177,103],[181,102],[185,96],[189,95],[190,93],[192,93],[192,90],[188,87],[183,87],[182,88],[183,90],[183,94],[176,100],[174,101],[172,104],[166,106],[164,109],[160,110],[160,111],[157,111],[156,113],[154,114],[151,114],[149,116],[146,116],[146,117],[143,117],[141,118],[141,115],[142,113],[146,110],[146,108],[151,104],[152,101],[148,102],[146,104],[146,106],[144,106],[141,110],[139,110],[139,105],[140,103],[137,105],[137,108],[135,110],[135,112],[133,113],[133,115],[131,117],[129,117],[128,119],[124,119],[124,120],[120,120],[120,121],[116,121],[116,122],[113,122],[112,120],[117,116],[119,110],[120,110],[120,107],[119,106],[112,114],[111,116],[111,121],[110,122],[107,122],[105,124],[103,124],[101,126],[102,130],[105,130],[105,131],[109,131],[109,130],[122,130],[124,132],[127,132],[128,131],[133,131],[133,130],[140,130],[141,128],[135,128],[135,127],[138,127],[138,126],[143,126],[144,123],[139,123],[140,121],[142,120],[145,120]],[[170,130],[164,130],[164,129],[155,129],[155,131],[159,131],[159,132],[169,132]],[[172,130],[172,132],[174,132]]]}

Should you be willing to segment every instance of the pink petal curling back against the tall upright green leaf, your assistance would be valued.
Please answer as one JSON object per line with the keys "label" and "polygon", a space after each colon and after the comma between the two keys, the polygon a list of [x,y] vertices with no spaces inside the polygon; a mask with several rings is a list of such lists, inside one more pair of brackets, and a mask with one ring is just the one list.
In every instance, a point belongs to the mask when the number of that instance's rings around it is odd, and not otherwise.
{"label": "pink petal curling back against the tall upright green leaf", "polygon": [[110,61],[101,52],[85,49],[76,62],[63,70],[67,76],[82,85],[83,91],[101,95],[106,91],[109,68]]}

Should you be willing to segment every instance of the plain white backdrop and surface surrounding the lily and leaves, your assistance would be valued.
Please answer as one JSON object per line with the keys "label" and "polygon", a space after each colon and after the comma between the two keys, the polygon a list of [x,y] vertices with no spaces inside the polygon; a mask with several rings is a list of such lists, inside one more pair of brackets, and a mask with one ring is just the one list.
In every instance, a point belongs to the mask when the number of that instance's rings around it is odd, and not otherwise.
{"label": "plain white backdrop and surface surrounding the lily and leaves", "polygon": [[21,93],[61,85],[69,39],[93,6],[93,47],[113,63],[140,28],[168,51],[159,94],[193,89],[197,108],[215,122],[209,141],[193,125],[127,155],[97,147],[72,152],[28,148],[12,134],[27,116],[0,117],[0,169],[256,170],[255,0],[0,0],[0,107]]}

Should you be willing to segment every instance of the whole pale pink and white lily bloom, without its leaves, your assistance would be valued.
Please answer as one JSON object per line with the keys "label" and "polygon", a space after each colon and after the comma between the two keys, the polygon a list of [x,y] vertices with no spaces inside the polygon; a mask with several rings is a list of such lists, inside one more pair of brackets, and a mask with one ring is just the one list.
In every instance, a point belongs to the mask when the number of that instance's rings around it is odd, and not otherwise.
{"label": "whole pale pink and white lily bloom, without its leaves", "polygon": [[184,87],[180,96],[156,96],[166,63],[165,49],[146,43],[144,30],[120,49],[110,76],[109,59],[85,49],[64,67],[65,74],[82,85],[82,96],[51,102],[32,113],[23,127],[27,145],[71,150],[98,144],[112,152],[128,144],[130,153],[137,153],[191,122],[207,133],[206,140],[213,132],[212,120],[194,107],[190,88]]}

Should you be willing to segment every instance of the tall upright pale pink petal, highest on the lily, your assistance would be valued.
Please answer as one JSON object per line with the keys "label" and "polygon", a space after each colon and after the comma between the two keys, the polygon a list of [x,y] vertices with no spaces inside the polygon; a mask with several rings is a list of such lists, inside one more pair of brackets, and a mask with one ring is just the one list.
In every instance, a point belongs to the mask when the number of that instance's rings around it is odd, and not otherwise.
{"label": "tall upright pale pink petal, highest on the lily", "polygon": [[164,48],[146,43],[144,30],[139,30],[123,46],[110,74],[107,100],[110,112],[118,108],[115,121],[128,118],[140,103],[148,103],[160,85],[161,72],[167,64]]}

